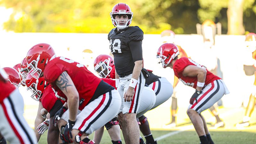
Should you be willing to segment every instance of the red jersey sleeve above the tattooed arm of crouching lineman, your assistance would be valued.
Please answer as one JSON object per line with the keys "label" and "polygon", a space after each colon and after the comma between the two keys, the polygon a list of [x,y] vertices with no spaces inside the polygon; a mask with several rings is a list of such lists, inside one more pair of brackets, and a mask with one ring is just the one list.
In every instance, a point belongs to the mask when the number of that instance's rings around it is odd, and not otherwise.
{"label": "red jersey sleeve above the tattooed arm of crouching lineman", "polygon": [[[49,64],[49,63],[48,63]],[[62,68],[58,64],[51,64],[44,69],[44,79],[49,83],[54,83],[58,77],[62,74]]]}

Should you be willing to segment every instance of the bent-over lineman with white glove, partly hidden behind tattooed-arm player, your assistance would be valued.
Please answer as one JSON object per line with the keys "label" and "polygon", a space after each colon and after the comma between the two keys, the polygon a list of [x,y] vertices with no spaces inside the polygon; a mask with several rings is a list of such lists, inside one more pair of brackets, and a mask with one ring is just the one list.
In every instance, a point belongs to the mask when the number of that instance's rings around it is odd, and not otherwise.
{"label": "bent-over lineman with white glove, partly hidden behind tattooed-arm player", "polygon": [[[51,85],[44,80],[44,77],[38,79],[31,76],[33,71],[30,71],[26,76],[27,90],[32,92],[31,98],[39,101],[37,116],[35,120],[35,132],[37,141],[41,135],[48,130],[47,143],[56,144],[59,142],[59,129],[53,126],[53,116],[65,103],[64,100],[58,98],[58,93],[55,92]],[[49,113],[49,119],[46,114]],[[45,120],[46,119],[46,120]]]}

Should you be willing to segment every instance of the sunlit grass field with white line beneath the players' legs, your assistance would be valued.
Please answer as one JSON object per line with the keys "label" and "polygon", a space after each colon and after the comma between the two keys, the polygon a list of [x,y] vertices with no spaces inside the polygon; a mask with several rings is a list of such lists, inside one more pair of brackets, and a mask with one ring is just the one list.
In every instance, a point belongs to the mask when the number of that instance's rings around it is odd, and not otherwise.
{"label": "sunlit grass field with white line beneath the players' legs", "polygon": [[[164,129],[163,124],[166,124],[170,119],[170,114],[164,114],[164,107],[158,107],[145,114],[152,130],[152,134],[158,144],[199,144],[199,138],[194,130],[193,124],[190,122],[186,108],[178,110],[177,123],[178,126],[172,129]],[[215,118],[212,117],[209,110],[205,110],[202,115],[208,124],[212,139],[215,144],[255,144],[256,143],[256,110],[252,113],[251,125],[243,129],[237,129],[235,124],[242,120],[244,116],[244,108],[220,108],[220,117],[225,122],[224,128],[215,129],[211,125],[214,124]],[[121,134],[122,135],[122,134]],[[141,134],[142,135],[142,134]],[[39,144],[47,144],[47,133],[45,133]],[[93,139],[93,134],[89,136]],[[144,138],[145,140],[145,138]],[[122,137],[122,141],[124,139]],[[108,132],[105,130],[102,144],[112,144]]]}

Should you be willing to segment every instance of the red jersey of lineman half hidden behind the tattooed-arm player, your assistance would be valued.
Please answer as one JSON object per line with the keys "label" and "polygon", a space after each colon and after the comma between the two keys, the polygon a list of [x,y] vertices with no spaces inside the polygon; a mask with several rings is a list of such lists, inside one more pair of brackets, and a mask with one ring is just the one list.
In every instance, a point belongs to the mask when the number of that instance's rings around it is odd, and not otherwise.
{"label": "red jersey of lineman half hidden behind the tattooed-arm player", "polygon": [[[56,97],[56,95],[58,94],[59,92],[56,92],[54,93],[51,85],[47,85],[46,88],[44,89],[44,93],[42,95],[42,98],[41,98],[41,102],[42,102],[42,105],[43,107],[49,112],[53,105],[55,104],[56,100],[60,100]],[[62,104],[65,103],[64,100],[60,100],[62,102]]]}

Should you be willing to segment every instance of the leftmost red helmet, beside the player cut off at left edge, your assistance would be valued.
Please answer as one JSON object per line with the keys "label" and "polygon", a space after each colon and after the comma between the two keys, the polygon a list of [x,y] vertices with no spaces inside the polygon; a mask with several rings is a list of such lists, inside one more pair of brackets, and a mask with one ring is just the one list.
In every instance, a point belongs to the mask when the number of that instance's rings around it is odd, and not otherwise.
{"label": "leftmost red helmet, beside the player cut off at left edge", "polygon": [[8,81],[10,84],[13,84],[15,87],[20,87],[20,74],[19,72],[10,67],[5,67],[3,68],[4,71],[6,72],[7,76],[9,77]]}

